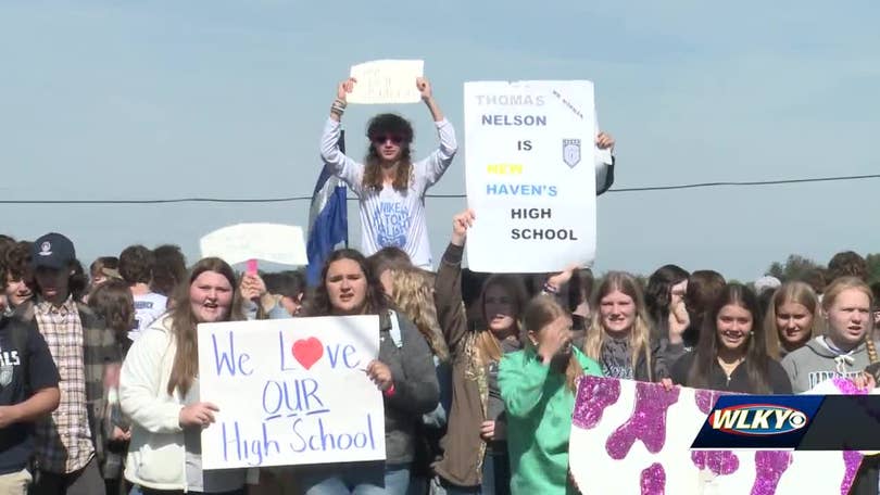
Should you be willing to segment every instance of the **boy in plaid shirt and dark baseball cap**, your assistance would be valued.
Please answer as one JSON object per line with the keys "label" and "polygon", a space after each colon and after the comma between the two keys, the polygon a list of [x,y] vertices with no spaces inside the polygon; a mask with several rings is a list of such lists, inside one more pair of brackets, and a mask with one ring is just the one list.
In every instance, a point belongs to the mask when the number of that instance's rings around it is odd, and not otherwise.
{"label": "boy in plaid shirt and dark baseball cap", "polygon": [[120,350],[103,320],[71,295],[76,252],[60,233],[33,244],[32,267],[38,299],[23,313],[36,322],[60,376],[61,403],[37,423],[34,495],[92,495],[104,491],[103,459],[108,366],[120,366]]}

